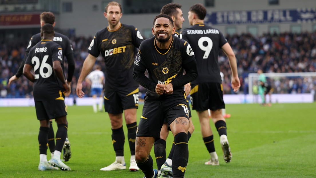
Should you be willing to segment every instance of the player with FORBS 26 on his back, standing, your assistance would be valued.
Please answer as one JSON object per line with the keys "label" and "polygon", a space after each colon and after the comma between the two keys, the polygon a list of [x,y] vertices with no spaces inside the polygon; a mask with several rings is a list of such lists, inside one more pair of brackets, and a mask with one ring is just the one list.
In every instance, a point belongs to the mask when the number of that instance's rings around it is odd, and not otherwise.
{"label": "player with FORBS 26 on his back, standing", "polygon": [[[40,120],[40,165],[39,170],[70,168],[60,160],[61,151],[67,136],[68,121],[67,110],[64,102],[64,93],[69,92],[70,87],[64,78],[64,61],[62,47],[53,42],[54,27],[45,24],[41,27],[42,40],[29,50],[23,68],[23,75],[34,82],[33,96],[37,119]],[[31,69],[34,68],[34,73]],[[47,144],[50,119],[55,118],[58,124],[56,133],[56,147],[51,165],[47,162]]]}

